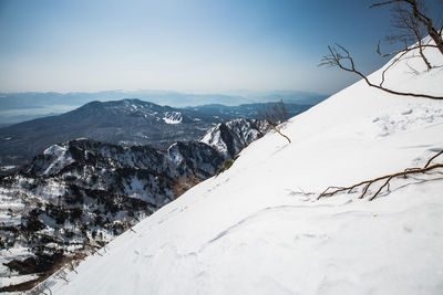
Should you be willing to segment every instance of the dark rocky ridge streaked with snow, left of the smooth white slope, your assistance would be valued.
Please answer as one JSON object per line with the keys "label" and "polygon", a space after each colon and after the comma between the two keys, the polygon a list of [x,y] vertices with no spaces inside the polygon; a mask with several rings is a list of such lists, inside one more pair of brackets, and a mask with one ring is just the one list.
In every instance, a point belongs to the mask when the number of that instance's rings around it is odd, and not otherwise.
{"label": "dark rocky ridge streaked with snow, left of the smooth white slope", "polygon": [[0,179],[0,275],[44,276],[63,259],[87,254],[214,176],[265,131],[237,119],[167,149],[86,138],[47,148]]}

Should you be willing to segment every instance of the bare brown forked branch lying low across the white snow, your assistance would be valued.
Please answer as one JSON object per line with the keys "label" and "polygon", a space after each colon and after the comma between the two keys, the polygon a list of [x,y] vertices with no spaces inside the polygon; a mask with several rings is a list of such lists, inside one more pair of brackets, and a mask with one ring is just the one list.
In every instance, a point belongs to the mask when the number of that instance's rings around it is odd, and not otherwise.
{"label": "bare brown forked branch lying low across the white snow", "polygon": [[[437,169],[437,168],[443,168],[443,164],[431,165],[431,162],[436,157],[439,157],[441,155],[443,155],[443,150],[439,151],[436,155],[434,155],[432,158],[430,158],[427,160],[426,165],[423,168],[408,168],[408,169],[405,169],[404,171],[401,171],[401,172],[385,175],[385,176],[381,176],[381,177],[378,177],[378,178],[364,180],[364,181],[361,181],[359,183],[352,185],[350,187],[328,187],[323,192],[321,192],[319,194],[319,197],[317,197],[317,200],[319,200],[319,199],[321,199],[323,197],[332,197],[332,196],[334,196],[337,193],[344,192],[344,191],[350,193],[350,192],[352,192],[353,189],[356,189],[358,187],[361,187],[361,186],[364,186],[363,189],[362,189],[362,192],[361,192],[361,194],[359,197],[360,199],[362,199],[368,193],[368,190],[372,185],[374,185],[378,181],[384,180],[384,182],[378,188],[378,190],[372,194],[372,197],[369,198],[369,200],[372,201],[373,199],[375,199],[380,194],[380,192],[385,187],[388,187],[388,190],[389,190],[390,181],[392,179],[394,179],[394,178],[406,177],[409,175],[425,173],[425,172],[427,172],[430,170],[434,170],[434,169]],[[332,190],[332,191],[330,191],[330,190]]]}

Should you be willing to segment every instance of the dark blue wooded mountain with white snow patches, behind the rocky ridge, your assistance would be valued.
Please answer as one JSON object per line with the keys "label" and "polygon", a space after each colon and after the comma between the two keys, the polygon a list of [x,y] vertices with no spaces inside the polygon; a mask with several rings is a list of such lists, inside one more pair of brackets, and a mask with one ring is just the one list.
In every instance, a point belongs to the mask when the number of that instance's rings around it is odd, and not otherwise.
{"label": "dark blue wooded mountain with white snow patches, behind the rocky ridge", "polygon": [[[261,107],[266,104],[173,108],[140,99],[92,102],[59,116],[0,128],[0,167],[6,173],[53,144],[81,137],[122,146],[167,148],[175,141],[198,140],[218,123],[256,118]],[[309,107],[287,104],[289,116]]]}

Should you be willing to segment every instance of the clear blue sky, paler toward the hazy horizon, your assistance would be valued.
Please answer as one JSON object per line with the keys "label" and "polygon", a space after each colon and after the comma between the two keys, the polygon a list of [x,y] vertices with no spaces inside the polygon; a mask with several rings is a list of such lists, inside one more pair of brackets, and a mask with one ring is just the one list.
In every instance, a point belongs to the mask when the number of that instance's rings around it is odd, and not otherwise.
{"label": "clear blue sky, paler toward the hazy horizon", "polygon": [[374,49],[389,10],[371,3],[0,0],[0,92],[331,94],[357,77],[317,66],[328,44],[347,46],[364,73],[387,62]]}

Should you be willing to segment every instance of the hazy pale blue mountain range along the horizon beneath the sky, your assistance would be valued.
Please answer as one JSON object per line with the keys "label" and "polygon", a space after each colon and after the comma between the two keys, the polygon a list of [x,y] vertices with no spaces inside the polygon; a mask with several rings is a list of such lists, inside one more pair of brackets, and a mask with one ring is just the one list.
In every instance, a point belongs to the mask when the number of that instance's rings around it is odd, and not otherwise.
{"label": "hazy pale blue mountain range along the horizon beneath the sky", "polygon": [[167,91],[106,91],[96,93],[0,93],[0,124],[20,122],[62,114],[93,101],[107,102],[137,97],[173,107],[223,104],[266,103],[284,99],[286,103],[315,105],[327,97],[317,93],[296,91],[250,92],[230,91],[222,94],[189,94]]}

